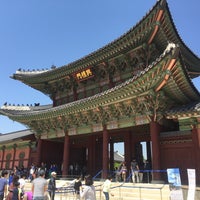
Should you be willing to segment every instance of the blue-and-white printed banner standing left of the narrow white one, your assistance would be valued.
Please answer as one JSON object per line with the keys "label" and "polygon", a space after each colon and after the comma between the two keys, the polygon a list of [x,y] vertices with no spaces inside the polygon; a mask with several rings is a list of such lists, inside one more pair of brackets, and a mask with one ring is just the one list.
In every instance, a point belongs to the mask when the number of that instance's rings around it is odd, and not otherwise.
{"label": "blue-and-white printed banner standing left of the narrow white one", "polygon": [[167,169],[171,200],[183,200],[181,177],[178,168]]}

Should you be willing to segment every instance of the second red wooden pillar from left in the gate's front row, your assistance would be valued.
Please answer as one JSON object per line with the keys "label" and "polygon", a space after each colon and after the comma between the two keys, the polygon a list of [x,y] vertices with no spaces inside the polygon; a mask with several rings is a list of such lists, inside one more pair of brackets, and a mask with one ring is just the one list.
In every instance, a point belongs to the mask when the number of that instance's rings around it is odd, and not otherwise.
{"label": "second red wooden pillar from left in the gate's front row", "polygon": [[68,132],[65,133],[65,138],[64,138],[64,152],[63,152],[63,169],[62,169],[62,175],[66,176],[69,171],[69,135]]}

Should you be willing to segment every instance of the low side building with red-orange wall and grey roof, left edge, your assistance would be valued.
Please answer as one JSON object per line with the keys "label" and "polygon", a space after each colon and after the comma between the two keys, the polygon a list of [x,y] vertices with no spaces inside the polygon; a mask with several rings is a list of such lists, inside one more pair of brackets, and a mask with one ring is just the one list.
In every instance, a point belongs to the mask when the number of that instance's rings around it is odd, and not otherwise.
{"label": "low side building with red-orange wall and grey roof, left edge", "polygon": [[35,146],[36,138],[31,130],[0,134],[0,170],[29,168]]}

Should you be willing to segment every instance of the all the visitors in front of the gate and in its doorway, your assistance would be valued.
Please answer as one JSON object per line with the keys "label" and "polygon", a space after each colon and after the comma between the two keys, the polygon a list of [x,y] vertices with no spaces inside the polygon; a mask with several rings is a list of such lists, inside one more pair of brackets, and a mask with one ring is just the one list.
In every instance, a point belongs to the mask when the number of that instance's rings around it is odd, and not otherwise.
{"label": "all the visitors in front of the gate and in its doorway", "polygon": [[[72,167],[71,167],[72,168]],[[52,164],[47,169],[44,163],[41,163],[40,167],[35,167],[33,164],[29,169],[22,170],[23,168],[14,167],[12,171],[3,170],[0,178],[0,200],[44,200],[48,196],[49,199],[54,200],[56,191],[56,176],[57,166]],[[74,173],[73,168],[72,173]],[[130,169],[127,168],[126,163],[123,162],[115,171],[115,177],[108,175],[107,179],[102,185],[102,192],[105,196],[105,200],[109,200],[110,195],[113,194],[111,190],[111,182],[113,178],[116,181],[128,181],[127,175],[131,175],[133,183],[149,182],[151,165],[148,160],[145,161],[143,168],[135,158],[132,159]],[[70,167],[69,167],[70,170]],[[74,180],[73,187],[76,195],[76,199],[90,199],[96,200],[96,191],[93,185],[93,178],[91,175],[77,175]],[[84,177],[85,184],[82,184]],[[32,184],[31,191],[25,191],[25,184],[28,180]],[[129,181],[130,182],[130,181]]]}

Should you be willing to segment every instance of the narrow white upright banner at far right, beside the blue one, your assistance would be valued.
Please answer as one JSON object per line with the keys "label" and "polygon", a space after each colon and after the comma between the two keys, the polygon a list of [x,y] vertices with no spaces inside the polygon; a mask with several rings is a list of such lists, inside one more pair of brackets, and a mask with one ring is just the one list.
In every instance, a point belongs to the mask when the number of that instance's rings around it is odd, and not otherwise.
{"label": "narrow white upright banner at far right, beside the blue one", "polygon": [[188,174],[188,196],[187,200],[195,200],[196,191],[196,173],[195,169],[187,169]]}

